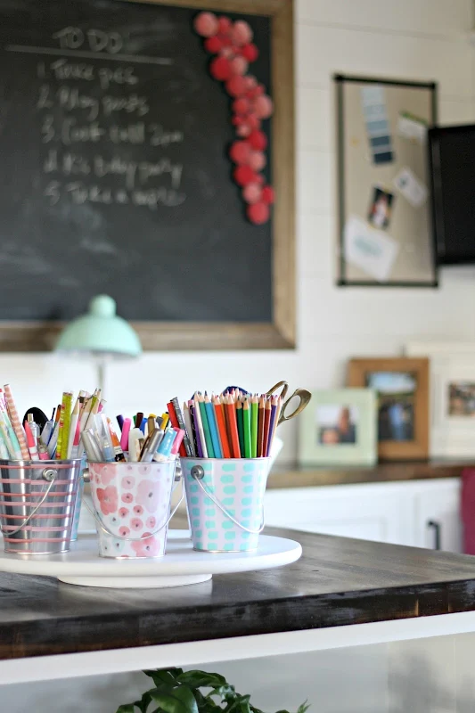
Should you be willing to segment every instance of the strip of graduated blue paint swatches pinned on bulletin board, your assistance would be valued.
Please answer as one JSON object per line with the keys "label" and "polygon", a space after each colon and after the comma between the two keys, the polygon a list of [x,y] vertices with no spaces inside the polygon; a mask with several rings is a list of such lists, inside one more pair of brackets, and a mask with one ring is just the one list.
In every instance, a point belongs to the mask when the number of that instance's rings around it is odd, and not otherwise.
{"label": "strip of graduated blue paint swatches pinned on bulletin board", "polygon": [[361,89],[366,134],[373,163],[391,163],[394,160],[388,111],[382,86],[364,86]]}

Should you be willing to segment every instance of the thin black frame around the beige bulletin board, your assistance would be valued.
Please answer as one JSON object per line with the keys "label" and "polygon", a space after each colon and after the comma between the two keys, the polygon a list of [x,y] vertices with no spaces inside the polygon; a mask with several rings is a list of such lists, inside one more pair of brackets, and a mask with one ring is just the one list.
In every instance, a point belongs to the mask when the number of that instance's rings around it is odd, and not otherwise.
{"label": "thin black frame around the beige bulletin board", "polygon": [[[422,206],[426,211],[426,229],[421,236],[421,244],[428,251],[429,257],[427,260],[428,272],[424,279],[413,278],[398,278],[391,279],[364,279],[364,277],[352,277],[348,275],[348,259],[346,256],[345,230],[349,217],[347,196],[348,190],[348,170],[347,170],[347,154],[348,154],[348,117],[345,105],[345,86],[362,84],[368,86],[381,86],[383,90],[389,87],[397,87],[399,89],[420,89],[422,92],[428,93],[429,113],[427,128],[437,126],[438,121],[438,86],[435,82],[418,82],[405,79],[380,78],[380,77],[364,77],[364,76],[348,76],[335,74],[334,82],[336,86],[336,111],[337,111],[337,192],[338,192],[338,278],[337,285],[340,287],[417,287],[417,288],[437,288],[438,287],[438,264],[433,239],[431,213],[430,213],[430,197]],[[405,110],[404,104],[401,104],[399,111]],[[396,117],[389,117],[389,125],[391,131],[394,128]],[[422,152],[423,163],[425,170],[429,171],[429,156],[426,149],[427,144],[421,142],[420,150]],[[427,155],[426,155],[427,154]],[[399,167],[400,168],[400,167]],[[411,168],[409,165],[408,168]],[[397,170],[395,169],[395,174]],[[429,174],[427,184],[429,184]],[[375,182],[374,182],[375,183]],[[374,183],[367,185],[368,199],[371,194],[371,189]],[[392,189],[391,189],[392,190]],[[396,191],[394,192],[396,193]],[[405,201],[405,198],[397,194],[397,201]],[[368,201],[369,202],[369,201]],[[366,216],[363,217],[363,220]],[[368,224],[369,225],[369,224]]]}

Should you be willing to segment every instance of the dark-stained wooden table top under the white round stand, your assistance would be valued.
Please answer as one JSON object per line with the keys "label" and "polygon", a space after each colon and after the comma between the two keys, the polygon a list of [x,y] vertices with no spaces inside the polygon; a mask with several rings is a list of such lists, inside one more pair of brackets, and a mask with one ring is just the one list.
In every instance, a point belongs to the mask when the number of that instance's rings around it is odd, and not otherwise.
{"label": "dark-stained wooden table top under the white round stand", "polygon": [[475,610],[475,557],[267,532],[299,540],[302,558],[170,589],[97,589],[0,573],[0,659]]}

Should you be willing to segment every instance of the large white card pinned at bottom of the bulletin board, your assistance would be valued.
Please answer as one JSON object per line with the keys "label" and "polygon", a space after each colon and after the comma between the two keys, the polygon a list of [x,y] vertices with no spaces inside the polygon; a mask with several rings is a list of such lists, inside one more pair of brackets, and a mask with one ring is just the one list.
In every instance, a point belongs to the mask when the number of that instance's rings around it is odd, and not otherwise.
{"label": "large white card pinned at bottom of the bulletin board", "polygon": [[381,230],[373,230],[364,220],[351,216],[345,225],[345,259],[379,283],[389,280],[399,246]]}

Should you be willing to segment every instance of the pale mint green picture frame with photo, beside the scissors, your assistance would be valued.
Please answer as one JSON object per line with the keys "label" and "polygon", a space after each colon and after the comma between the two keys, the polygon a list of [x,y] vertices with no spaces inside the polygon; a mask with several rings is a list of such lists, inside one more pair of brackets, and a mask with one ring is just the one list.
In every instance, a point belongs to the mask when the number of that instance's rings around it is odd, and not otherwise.
{"label": "pale mint green picture frame with photo, beside the scissors", "polygon": [[314,391],[300,416],[301,465],[373,465],[376,394],[371,389]]}

